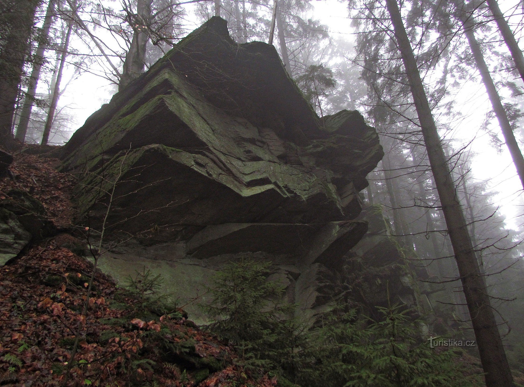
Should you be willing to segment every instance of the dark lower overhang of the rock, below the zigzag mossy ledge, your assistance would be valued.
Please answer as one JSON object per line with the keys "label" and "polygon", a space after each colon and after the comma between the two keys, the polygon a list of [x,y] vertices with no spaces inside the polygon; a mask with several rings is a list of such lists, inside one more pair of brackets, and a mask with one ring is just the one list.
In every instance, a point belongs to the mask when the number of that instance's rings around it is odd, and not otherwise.
{"label": "dark lower overhang of the rock, below the zigzag mossy ledge", "polygon": [[[282,176],[287,166],[275,165],[268,175]],[[148,145],[119,154],[105,166],[106,175],[122,172],[116,186],[108,230],[125,225],[136,233],[154,228],[173,229],[169,240],[187,239],[206,225],[221,223],[311,223],[343,218],[322,191],[321,180],[297,172],[289,185],[310,190],[309,200],[282,196],[272,187],[245,187],[227,176],[206,155],[195,155],[163,145]],[[264,173],[254,170],[253,173]],[[108,198],[97,201],[99,188],[110,191],[110,179],[93,174],[78,187],[75,200],[81,211],[91,211],[92,228],[99,227]],[[132,194],[129,194],[132,192]],[[246,194],[252,193],[251,195]],[[244,193],[244,195],[243,195]],[[136,216],[139,213],[139,216]],[[177,231],[178,230],[178,231]],[[181,235],[180,233],[183,233]]]}

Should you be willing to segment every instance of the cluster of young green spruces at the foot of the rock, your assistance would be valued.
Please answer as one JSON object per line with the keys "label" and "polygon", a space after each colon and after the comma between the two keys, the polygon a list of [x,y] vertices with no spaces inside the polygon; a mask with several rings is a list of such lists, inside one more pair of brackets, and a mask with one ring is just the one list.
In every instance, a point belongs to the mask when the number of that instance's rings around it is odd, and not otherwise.
{"label": "cluster of young green spruces at the foot of the rock", "polygon": [[250,372],[270,371],[281,387],[467,387],[473,374],[454,351],[429,347],[413,311],[377,307],[379,320],[336,307],[322,326],[307,329],[282,319],[282,287],[268,282],[269,264],[227,265],[213,281],[211,305],[203,306],[217,335],[230,340],[238,363]]}

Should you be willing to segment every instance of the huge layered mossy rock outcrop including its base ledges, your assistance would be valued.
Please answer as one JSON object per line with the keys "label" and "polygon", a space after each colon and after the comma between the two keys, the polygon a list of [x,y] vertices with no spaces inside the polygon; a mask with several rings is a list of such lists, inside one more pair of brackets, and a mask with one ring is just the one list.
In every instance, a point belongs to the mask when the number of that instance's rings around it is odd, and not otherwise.
{"label": "huge layered mossy rock outcrop including its base ledges", "polygon": [[219,17],[117,93],[61,154],[64,169],[85,172],[81,222],[100,230],[111,201],[110,238],[148,236],[106,255],[117,279],[145,265],[168,279],[166,292],[190,298],[224,262],[258,257],[313,314],[367,230],[355,220],[358,192],[382,156],[361,114],[319,118],[275,48],[236,44]]}

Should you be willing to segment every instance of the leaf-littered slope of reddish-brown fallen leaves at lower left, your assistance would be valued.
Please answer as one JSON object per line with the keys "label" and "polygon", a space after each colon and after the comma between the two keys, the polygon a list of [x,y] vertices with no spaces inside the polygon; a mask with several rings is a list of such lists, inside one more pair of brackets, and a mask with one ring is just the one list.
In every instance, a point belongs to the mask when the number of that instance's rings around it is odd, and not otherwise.
{"label": "leaf-littered slope of reddish-brown fallen leaves at lower left", "polygon": [[275,386],[276,378],[244,372],[231,346],[140,284],[128,291],[96,271],[88,299],[93,264],[77,255],[85,241],[72,235],[75,179],[57,164],[20,153],[13,178],[0,181],[0,201],[12,189],[30,193],[57,230],[0,268],[0,385]]}

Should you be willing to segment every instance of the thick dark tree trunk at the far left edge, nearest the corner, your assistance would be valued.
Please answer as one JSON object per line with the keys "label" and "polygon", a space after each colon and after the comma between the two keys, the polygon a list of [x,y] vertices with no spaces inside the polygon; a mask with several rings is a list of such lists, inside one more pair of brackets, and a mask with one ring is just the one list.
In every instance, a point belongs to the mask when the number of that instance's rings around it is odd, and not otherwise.
{"label": "thick dark tree trunk at the far left edge, nearest the corner", "polygon": [[0,138],[12,136],[15,105],[39,0],[0,0]]}

